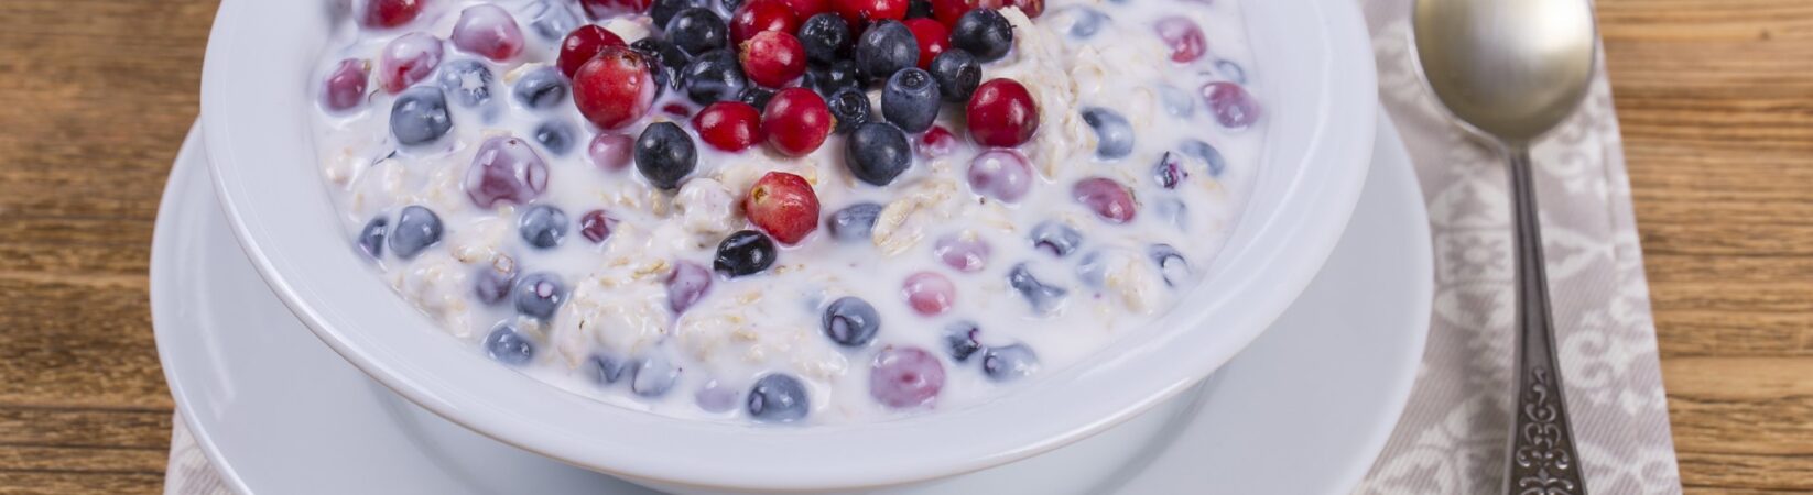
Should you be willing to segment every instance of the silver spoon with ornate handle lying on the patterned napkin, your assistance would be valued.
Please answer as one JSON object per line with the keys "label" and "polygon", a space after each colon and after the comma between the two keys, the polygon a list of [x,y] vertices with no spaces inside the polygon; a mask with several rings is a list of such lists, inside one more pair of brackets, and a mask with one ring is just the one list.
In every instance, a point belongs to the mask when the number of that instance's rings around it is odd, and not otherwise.
{"label": "silver spoon with ornate handle lying on the patterned napkin", "polygon": [[1588,0],[1416,0],[1423,76],[1470,131],[1510,156],[1517,245],[1517,390],[1505,493],[1586,493],[1556,366],[1530,143],[1586,96],[1594,74]]}

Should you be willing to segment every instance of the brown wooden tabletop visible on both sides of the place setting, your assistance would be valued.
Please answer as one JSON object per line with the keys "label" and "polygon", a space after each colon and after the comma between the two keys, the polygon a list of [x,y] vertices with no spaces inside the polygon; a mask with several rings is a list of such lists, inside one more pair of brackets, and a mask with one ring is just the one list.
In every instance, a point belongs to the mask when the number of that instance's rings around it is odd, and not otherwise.
{"label": "brown wooden tabletop visible on both sides of the place setting", "polygon": [[[0,493],[161,490],[152,218],[214,0],[0,2]],[[1690,491],[1813,491],[1813,4],[1599,0]]]}

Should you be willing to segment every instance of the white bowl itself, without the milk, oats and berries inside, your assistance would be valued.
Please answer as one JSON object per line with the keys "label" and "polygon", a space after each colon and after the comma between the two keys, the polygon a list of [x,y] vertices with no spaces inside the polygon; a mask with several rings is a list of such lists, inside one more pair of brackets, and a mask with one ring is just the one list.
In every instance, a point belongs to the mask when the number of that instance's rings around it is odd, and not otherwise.
{"label": "white bowl itself, without the milk, oats and berries inside", "polygon": [[[310,136],[312,67],[343,2],[221,4],[201,112],[216,192],[259,274],[328,346],[402,397],[499,441],[667,488],[830,491],[1035,455],[1198,383],[1304,290],[1369,165],[1372,53],[1352,0],[1247,0],[1265,163],[1207,283],[1093,363],[995,401],[879,424],[772,428],[631,412],[486,361],[348,248]],[[306,377],[297,377],[306,379]]]}

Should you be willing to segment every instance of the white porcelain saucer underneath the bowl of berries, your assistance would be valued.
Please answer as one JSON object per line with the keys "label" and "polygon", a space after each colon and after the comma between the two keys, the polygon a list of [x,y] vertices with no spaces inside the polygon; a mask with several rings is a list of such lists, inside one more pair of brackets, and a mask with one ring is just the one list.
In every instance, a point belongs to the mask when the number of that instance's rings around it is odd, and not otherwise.
{"label": "white porcelain saucer underneath the bowl of berries", "polygon": [[[163,192],[150,303],[170,392],[221,479],[243,493],[649,493],[446,422],[328,350],[239,250],[199,141]],[[1082,441],[1149,437],[1131,462],[1061,448],[934,490],[1349,491],[1411,395],[1432,290],[1429,216],[1389,121],[1374,149],[1345,238],[1291,310],[1178,403]],[[1095,482],[1053,486],[1071,471]]]}

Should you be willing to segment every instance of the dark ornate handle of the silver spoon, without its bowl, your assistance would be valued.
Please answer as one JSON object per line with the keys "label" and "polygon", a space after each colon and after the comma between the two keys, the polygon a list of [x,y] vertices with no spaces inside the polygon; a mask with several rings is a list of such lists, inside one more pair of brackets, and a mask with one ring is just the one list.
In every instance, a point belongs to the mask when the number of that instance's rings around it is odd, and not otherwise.
{"label": "dark ornate handle of the silver spoon, without its bowl", "polygon": [[1556,366],[1556,332],[1548,314],[1548,274],[1543,270],[1543,236],[1536,218],[1536,185],[1530,150],[1510,152],[1510,203],[1517,245],[1517,392],[1512,410],[1510,471],[1505,493],[1586,493],[1574,428],[1561,397]]}

